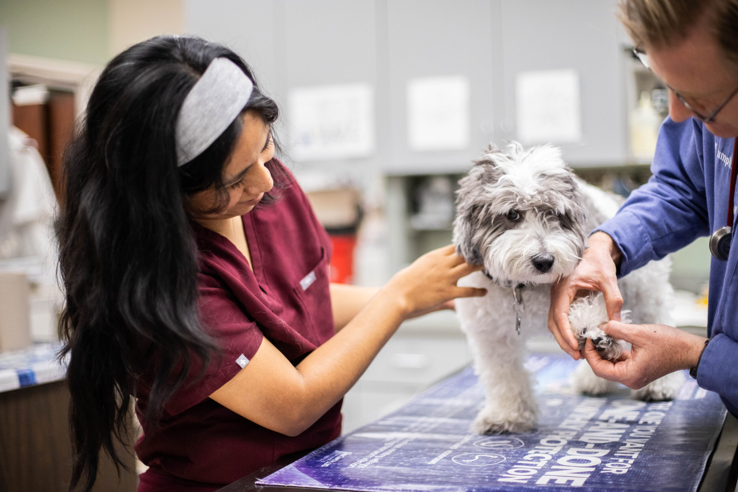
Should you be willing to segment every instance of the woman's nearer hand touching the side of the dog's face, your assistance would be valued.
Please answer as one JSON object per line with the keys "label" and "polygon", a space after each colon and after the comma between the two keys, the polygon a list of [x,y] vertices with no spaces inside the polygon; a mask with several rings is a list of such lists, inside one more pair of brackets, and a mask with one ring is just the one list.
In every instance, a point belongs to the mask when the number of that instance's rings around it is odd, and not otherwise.
{"label": "woman's nearer hand touching the side of the dog's face", "polygon": [[455,246],[434,249],[397,272],[384,289],[393,292],[404,305],[405,318],[448,309],[456,297],[482,297],[486,289],[458,287],[456,283],[483,265],[470,265],[456,254]]}

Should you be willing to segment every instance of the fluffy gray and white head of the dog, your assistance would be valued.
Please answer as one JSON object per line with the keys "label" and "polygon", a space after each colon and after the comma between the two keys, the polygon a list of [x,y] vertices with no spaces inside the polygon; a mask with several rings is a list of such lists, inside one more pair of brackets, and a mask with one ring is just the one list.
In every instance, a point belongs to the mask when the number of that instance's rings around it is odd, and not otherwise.
{"label": "fluffy gray and white head of the dog", "polygon": [[454,243],[503,285],[552,283],[584,251],[584,205],[574,174],[551,145],[490,145],[459,181]]}

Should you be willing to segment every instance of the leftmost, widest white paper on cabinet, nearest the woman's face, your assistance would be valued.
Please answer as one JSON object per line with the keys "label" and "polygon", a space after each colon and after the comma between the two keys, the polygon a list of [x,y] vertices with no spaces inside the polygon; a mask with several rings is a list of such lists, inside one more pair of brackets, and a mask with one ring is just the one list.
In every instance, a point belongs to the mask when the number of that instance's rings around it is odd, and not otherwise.
{"label": "leftmost, widest white paper on cabinet, nearest the woman's face", "polygon": [[297,161],[368,157],[374,151],[374,102],[369,84],[289,91],[289,127]]}

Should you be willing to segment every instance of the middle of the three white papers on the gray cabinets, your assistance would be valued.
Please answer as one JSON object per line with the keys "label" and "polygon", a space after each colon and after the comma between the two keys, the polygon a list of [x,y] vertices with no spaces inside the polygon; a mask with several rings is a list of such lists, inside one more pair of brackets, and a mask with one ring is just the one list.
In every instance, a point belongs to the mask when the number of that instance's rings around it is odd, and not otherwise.
{"label": "middle of the three white papers on the gray cabinets", "polygon": [[424,77],[407,83],[407,143],[415,151],[469,147],[469,79]]}

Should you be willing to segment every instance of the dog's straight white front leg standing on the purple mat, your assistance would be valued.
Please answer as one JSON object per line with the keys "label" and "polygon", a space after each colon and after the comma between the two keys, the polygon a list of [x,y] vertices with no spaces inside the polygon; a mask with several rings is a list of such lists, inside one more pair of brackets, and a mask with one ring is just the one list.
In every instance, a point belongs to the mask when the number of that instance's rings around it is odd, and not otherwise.
{"label": "dog's straight white front leg standing on the purple mat", "polygon": [[472,423],[472,432],[498,434],[525,432],[537,425],[538,406],[533,393],[531,375],[525,370],[523,340],[514,330],[511,339],[485,333],[484,340],[472,342],[475,367],[486,389],[483,409]]}

